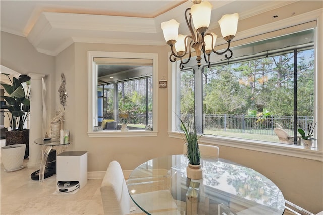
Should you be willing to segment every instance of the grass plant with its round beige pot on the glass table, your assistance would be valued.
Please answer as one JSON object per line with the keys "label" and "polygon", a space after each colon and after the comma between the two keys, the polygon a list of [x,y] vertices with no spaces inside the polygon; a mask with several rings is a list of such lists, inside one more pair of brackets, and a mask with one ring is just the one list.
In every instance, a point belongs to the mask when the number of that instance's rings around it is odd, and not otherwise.
{"label": "grass plant with its round beige pot on the glass table", "polygon": [[190,179],[202,178],[201,153],[199,150],[198,139],[203,135],[197,135],[194,122],[190,120],[187,125],[180,119],[180,128],[185,135],[185,144],[187,146],[187,159],[189,164],[186,168],[187,177]]}

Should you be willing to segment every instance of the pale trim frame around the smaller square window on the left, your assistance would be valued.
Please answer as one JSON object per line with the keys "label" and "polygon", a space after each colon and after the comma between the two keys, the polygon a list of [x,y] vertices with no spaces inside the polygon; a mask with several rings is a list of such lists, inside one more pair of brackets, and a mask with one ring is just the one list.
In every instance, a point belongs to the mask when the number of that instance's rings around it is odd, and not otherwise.
{"label": "pale trim frame around the smaller square window on the left", "polygon": [[[142,58],[153,59],[152,71],[152,117],[153,131],[129,130],[128,132],[116,131],[98,131],[94,132],[93,127],[97,121],[97,71],[95,69],[94,57],[100,58]],[[88,51],[87,52],[87,87],[88,87],[88,128],[89,137],[151,137],[158,134],[158,54],[157,53],[131,53],[131,52],[105,52]]]}

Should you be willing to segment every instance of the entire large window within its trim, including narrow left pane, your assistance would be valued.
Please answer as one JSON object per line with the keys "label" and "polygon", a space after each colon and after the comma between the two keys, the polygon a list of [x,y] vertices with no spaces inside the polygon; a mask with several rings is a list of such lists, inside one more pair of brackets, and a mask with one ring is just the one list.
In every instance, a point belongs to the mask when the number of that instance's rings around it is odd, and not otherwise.
{"label": "entire large window within its trim, including narrow left pane", "polygon": [[[178,70],[177,115],[184,121],[195,119],[202,133],[301,144],[297,129],[307,130],[316,122],[314,30],[235,47],[235,51],[240,56],[215,62],[210,69]],[[196,78],[198,72],[201,79]],[[201,94],[196,94],[196,87],[201,87]],[[202,107],[201,116],[197,106]],[[284,141],[275,128],[294,138]]]}

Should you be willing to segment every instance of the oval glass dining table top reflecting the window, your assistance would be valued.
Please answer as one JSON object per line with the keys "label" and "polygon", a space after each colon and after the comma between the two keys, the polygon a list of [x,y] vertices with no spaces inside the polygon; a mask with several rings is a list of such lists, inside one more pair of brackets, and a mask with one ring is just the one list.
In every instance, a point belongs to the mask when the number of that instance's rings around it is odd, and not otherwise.
{"label": "oval glass dining table top reflecting the window", "polygon": [[[134,203],[146,214],[160,214],[154,208],[163,195],[145,199],[142,193],[169,191],[177,206],[162,214],[252,215],[283,214],[285,199],[280,189],[259,172],[229,160],[202,157],[203,178],[186,176],[185,155],[158,157],[139,165],[127,186]],[[139,194],[139,195],[138,195]],[[149,195],[151,196],[151,195]],[[170,204],[171,205],[171,204]]]}

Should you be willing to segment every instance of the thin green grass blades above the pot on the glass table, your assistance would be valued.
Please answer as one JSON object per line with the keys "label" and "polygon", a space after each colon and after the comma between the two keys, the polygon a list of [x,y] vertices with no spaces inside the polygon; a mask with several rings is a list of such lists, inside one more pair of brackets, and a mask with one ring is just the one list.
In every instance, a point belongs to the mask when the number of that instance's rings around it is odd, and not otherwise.
{"label": "thin green grass blades above the pot on the glass table", "polygon": [[201,160],[201,153],[198,147],[198,139],[201,136],[197,135],[196,127],[194,122],[190,120],[187,124],[187,126],[184,124],[184,122],[181,121],[181,129],[183,130],[186,138],[186,145],[187,145],[187,158],[189,160],[189,163],[192,165],[199,165]]}

